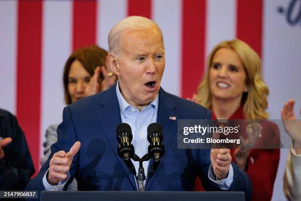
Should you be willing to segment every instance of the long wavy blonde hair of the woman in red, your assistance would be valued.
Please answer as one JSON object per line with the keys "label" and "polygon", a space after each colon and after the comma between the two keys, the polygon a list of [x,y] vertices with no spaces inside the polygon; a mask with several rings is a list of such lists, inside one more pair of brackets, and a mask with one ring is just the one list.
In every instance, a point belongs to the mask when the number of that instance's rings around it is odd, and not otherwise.
{"label": "long wavy blonde hair of the woman in red", "polygon": [[261,76],[261,61],[256,52],[245,42],[234,39],[223,41],[216,45],[207,58],[207,70],[203,81],[198,87],[196,100],[204,107],[211,109],[212,96],[209,88],[209,69],[212,65],[213,57],[220,48],[234,50],[240,57],[246,73],[246,86],[248,91],[244,92],[241,99],[243,104],[243,115],[246,119],[267,119],[269,114],[267,96],[269,89]]}

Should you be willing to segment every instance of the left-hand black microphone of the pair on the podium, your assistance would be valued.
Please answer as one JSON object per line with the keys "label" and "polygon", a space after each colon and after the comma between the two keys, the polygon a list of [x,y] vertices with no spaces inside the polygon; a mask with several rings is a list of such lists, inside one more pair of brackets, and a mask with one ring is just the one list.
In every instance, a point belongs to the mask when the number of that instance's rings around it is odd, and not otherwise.
{"label": "left-hand black microphone of the pair on the podium", "polygon": [[118,156],[124,161],[129,161],[135,156],[134,146],[131,144],[133,139],[132,129],[128,124],[121,123],[116,128],[118,145]]}

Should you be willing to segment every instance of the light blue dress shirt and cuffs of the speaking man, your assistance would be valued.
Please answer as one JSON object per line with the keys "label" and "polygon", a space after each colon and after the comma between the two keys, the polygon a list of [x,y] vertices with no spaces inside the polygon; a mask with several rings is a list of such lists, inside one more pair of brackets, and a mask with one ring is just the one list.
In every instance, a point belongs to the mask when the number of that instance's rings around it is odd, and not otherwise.
{"label": "light blue dress shirt and cuffs of the speaking man", "polygon": [[[157,95],[157,97],[153,101],[151,101],[149,105],[145,106],[141,111],[139,111],[137,108],[131,106],[121,95],[119,89],[119,81],[117,82],[116,85],[116,94],[117,94],[117,99],[120,107],[121,122],[130,125],[133,134],[133,140],[131,143],[134,145],[135,154],[138,155],[140,158],[142,158],[146,153],[148,153],[148,146],[149,146],[149,142],[147,139],[148,126],[151,123],[155,123],[157,121],[159,96]],[[135,166],[136,172],[138,172],[139,162],[133,161],[133,164]],[[145,170],[145,175],[147,177],[149,162],[148,161],[143,162],[143,167]],[[45,190],[46,191],[62,190],[69,178],[69,172],[67,172],[67,179],[62,180],[58,186],[52,186],[51,184],[48,183],[46,179],[47,172],[43,177],[43,184]],[[213,172],[212,165],[210,166],[208,171],[209,179],[214,183],[216,183],[217,185],[219,185],[219,187],[223,190],[230,189],[231,184],[233,183],[233,175],[234,173],[233,173],[232,165],[230,165],[228,177],[219,181],[215,179],[215,174]]]}

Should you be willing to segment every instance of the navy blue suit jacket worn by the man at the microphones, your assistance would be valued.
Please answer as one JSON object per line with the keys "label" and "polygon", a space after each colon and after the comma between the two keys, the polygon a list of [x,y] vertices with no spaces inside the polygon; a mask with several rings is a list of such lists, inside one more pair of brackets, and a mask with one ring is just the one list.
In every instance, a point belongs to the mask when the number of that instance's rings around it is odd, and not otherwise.
{"label": "navy blue suit jacket worn by the man at the microphones", "polygon": [[[163,127],[165,155],[151,177],[148,191],[192,191],[197,175],[206,190],[221,191],[208,178],[211,164],[209,149],[178,149],[177,121],[169,119],[211,119],[210,111],[188,100],[159,91],[157,123]],[[79,190],[133,191],[135,179],[117,153],[116,127],[121,123],[116,85],[94,96],[78,100],[63,111],[63,122],[58,128],[58,142],[51,147],[51,155],[28,184],[28,190],[44,190],[42,178],[49,161],[60,150],[68,152],[76,142],[81,142],[74,156],[68,182],[75,177]],[[152,161],[150,162],[151,166]],[[244,191],[251,197],[251,182],[235,164],[231,190]],[[68,183],[67,183],[68,184]],[[66,189],[67,185],[64,189]]]}

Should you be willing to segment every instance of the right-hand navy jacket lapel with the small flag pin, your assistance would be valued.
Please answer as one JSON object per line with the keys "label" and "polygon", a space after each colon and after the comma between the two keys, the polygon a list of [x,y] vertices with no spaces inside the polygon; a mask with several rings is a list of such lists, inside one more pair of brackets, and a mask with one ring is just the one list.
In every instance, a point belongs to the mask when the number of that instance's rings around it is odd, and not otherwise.
{"label": "right-hand navy jacket lapel with the small flag pin", "polygon": [[[158,108],[158,115],[157,115],[157,123],[160,124],[163,129],[163,144],[165,147],[165,155],[162,157],[156,172],[160,171],[160,168],[162,167],[162,163],[164,163],[168,150],[170,149],[172,141],[177,133],[178,119],[181,119],[181,115],[177,114],[174,111],[175,108],[176,105],[173,102],[171,95],[166,93],[161,88],[159,91],[159,108]],[[150,164],[150,166],[151,165],[152,164]],[[154,176],[152,176],[152,178],[150,179],[149,184],[147,186],[147,190],[150,190],[153,181],[154,181]]]}

